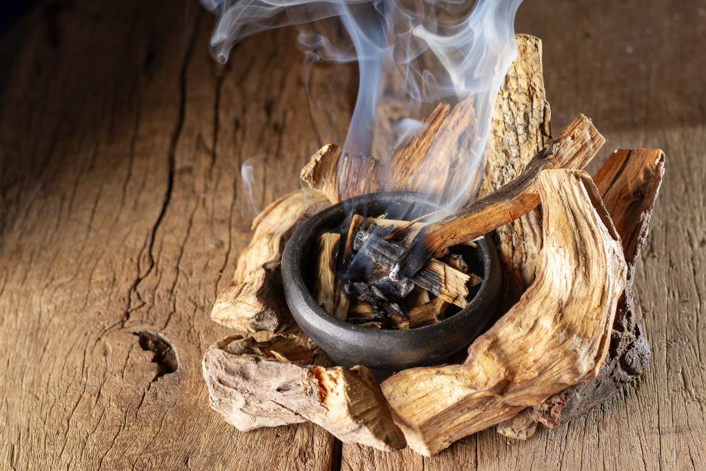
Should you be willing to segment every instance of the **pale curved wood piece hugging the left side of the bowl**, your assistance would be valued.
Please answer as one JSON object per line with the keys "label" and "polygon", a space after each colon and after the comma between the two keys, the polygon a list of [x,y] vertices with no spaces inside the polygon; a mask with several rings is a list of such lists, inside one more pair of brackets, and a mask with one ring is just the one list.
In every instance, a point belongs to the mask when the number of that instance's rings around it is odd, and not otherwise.
{"label": "pale curved wood piece hugging the left side of the bowl", "polygon": [[280,276],[282,250],[301,221],[328,205],[319,191],[296,190],[253,220],[253,238],[238,258],[233,280],[213,304],[213,321],[244,332],[275,332],[289,321]]}

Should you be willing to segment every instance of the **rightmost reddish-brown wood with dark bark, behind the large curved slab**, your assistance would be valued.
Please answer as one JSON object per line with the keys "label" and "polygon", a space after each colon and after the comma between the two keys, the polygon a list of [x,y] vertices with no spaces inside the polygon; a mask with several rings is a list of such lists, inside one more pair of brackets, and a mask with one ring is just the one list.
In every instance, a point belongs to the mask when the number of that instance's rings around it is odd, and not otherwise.
{"label": "rightmost reddish-brown wood with dark bark, behind the large curved slab", "polygon": [[628,263],[626,288],[618,301],[611,347],[597,378],[563,390],[534,408],[534,419],[546,427],[554,429],[612,398],[650,363],[650,346],[634,314],[633,278],[663,174],[662,150],[620,149],[594,177],[621,236]]}

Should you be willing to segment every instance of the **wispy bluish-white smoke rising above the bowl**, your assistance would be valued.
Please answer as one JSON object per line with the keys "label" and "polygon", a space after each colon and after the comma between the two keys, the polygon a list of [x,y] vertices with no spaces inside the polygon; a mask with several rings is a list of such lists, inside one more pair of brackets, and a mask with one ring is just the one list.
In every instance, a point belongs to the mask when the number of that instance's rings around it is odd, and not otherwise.
{"label": "wispy bluish-white smoke rising above the bowl", "polygon": [[[441,100],[473,100],[474,120],[467,132],[474,138],[455,169],[456,184],[446,192],[449,210],[473,198],[484,170],[493,106],[505,73],[515,59],[513,23],[522,0],[201,0],[217,13],[210,41],[218,61],[253,33],[299,25],[299,43],[317,59],[357,61],[359,91],[344,153],[371,155],[378,107],[385,100],[402,100],[406,117],[391,129],[399,145],[422,128],[420,119]],[[324,35],[312,22],[337,18],[347,37]],[[393,90],[394,97],[388,96]],[[391,149],[390,149],[391,151]],[[374,155],[385,160],[386,155]],[[428,172],[436,159],[425,159]]]}

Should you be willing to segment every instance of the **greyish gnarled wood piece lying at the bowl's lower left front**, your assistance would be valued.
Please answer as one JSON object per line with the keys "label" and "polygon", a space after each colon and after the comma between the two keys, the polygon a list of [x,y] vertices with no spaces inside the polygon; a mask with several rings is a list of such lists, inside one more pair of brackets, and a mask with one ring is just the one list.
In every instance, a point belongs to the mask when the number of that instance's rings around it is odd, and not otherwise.
{"label": "greyish gnarled wood piece lying at the bowl's lower left front", "polygon": [[368,369],[297,364],[289,361],[293,348],[278,335],[267,342],[227,337],[211,345],[203,357],[211,407],[241,431],[309,420],[344,443],[383,451],[405,446]]}

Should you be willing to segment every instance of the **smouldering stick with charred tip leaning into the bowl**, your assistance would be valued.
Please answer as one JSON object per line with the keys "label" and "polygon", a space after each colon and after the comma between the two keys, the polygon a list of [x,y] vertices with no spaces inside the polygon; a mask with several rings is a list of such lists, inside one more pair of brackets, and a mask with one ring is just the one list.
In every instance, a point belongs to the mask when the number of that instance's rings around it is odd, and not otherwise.
{"label": "smouldering stick with charred tip leaning into the bowl", "polygon": [[604,142],[590,119],[579,114],[549,141],[546,149],[532,157],[520,177],[455,215],[421,229],[409,249],[395,261],[393,278],[406,280],[421,270],[432,256],[443,255],[450,246],[480,237],[527,214],[539,205],[538,184],[542,170],[581,169]]}

